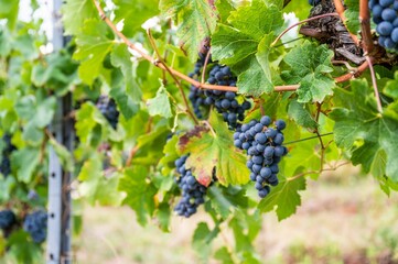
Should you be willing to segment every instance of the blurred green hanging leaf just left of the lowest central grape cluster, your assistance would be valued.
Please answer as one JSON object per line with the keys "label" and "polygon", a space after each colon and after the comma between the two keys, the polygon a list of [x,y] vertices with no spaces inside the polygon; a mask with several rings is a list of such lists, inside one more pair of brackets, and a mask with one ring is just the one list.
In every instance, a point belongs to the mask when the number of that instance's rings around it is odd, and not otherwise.
{"label": "blurred green hanging leaf just left of the lowest central grape cluster", "polygon": [[148,169],[142,166],[133,166],[125,170],[120,178],[119,190],[125,191],[127,197],[123,204],[130,206],[137,213],[137,220],[144,226],[154,211],[154,195],[157,189],[147,182]]}

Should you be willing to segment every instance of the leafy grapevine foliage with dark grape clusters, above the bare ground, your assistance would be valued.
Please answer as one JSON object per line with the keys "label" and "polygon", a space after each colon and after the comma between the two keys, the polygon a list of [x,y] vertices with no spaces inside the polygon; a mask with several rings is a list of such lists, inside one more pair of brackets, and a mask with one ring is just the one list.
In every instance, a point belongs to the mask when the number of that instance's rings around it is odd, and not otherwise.
{"label": "leafy grapevine foliage with dark grape clusters, above the bare ground", "polygon": [[0,10],[6,263],[74,255],[44,242],[88,205],[171,233],[203,217],[193,262],[262,263],[261,218],[295,213],[310,176],[398,189],[398,1],[158,2],[65,0],[53,37]]}

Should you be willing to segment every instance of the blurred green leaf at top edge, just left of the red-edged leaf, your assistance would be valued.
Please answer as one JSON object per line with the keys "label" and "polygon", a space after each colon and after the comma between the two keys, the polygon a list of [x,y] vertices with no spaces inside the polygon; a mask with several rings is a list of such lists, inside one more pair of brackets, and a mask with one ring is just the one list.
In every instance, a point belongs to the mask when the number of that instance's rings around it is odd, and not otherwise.
{"label": "blurred green leaf at top edge, just left of the red-edged leaf", "polygon": [[115,23],[123,21],[122,33],[126,36],[137,34],[142,30],[143,22],[158,14],[158,10],[153,8],[158,4],[157,0],[114,0],[114,3],[116,6]]}

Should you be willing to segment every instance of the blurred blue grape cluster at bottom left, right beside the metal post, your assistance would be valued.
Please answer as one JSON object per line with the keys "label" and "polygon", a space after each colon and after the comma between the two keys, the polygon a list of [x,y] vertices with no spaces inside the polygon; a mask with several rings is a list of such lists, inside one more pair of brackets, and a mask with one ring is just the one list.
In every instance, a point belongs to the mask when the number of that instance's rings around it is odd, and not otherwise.
{"label": "blurred blue grape cluster at bottom left, right beside the metal post", "polygon": [[47,235],[47,213],[43,210],[28,215],[23,221],[25,230],[35,243],[42,243]]}

